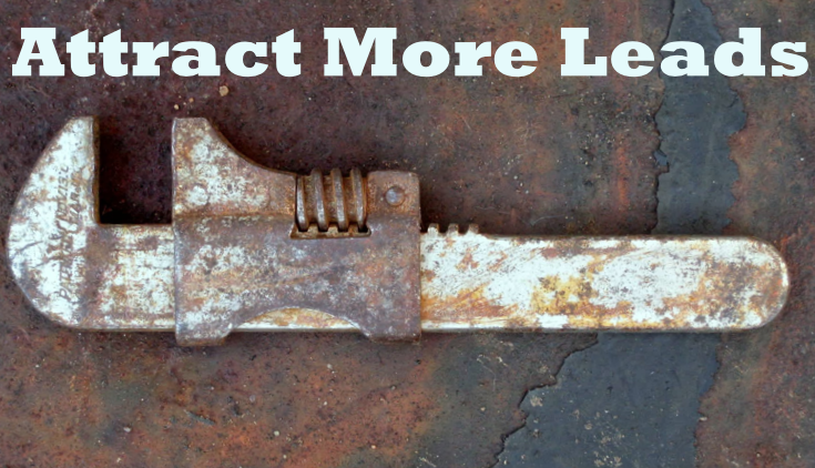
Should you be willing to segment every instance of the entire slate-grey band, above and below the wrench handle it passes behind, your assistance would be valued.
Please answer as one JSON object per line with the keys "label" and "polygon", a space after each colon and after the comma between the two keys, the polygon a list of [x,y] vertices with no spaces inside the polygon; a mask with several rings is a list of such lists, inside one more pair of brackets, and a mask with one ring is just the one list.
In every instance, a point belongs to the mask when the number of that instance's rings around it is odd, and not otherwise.
{"label": "entire slate-grey band, above and below the wrench handle it passes behind", "polygon": [[[710,10],[676,0],[673,13],[665,42],[699,42],[712,64],[722,40]],[[721,234],[738,176],[727,141],[744,125],[741,101],[715,72],[662,80],[654,159],[666,172],[653,233]],[[719,335],[601,335],[567,360],[556,387],[527,395],[527,424],[507,439],[499,466],[693,466],[699,398],[716,372],[717,343]]]}

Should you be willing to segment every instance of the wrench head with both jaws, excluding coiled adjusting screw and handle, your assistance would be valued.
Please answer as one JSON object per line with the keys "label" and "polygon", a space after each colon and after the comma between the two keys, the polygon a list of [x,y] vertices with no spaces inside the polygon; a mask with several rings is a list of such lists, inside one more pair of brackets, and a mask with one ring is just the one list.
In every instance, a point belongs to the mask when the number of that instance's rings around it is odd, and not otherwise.
{"label": "wrench head with both jaws, excluding coiled adjusting screw and handle", "polygon": [[[368,235],[304,234],[295,226],[294,174],[252,163],[204,119],[180,119],[173,225],[102,225],[98,146],[93,118],[68,122],[11,216],[11,271],[52,321],[82,329],[175,329],[181,344],[211,345],[258,316],[298,309],[374,339],[418,338],[415,174],[369,174]],[[400,203],[387,199],[396,189],[404,191]]]}

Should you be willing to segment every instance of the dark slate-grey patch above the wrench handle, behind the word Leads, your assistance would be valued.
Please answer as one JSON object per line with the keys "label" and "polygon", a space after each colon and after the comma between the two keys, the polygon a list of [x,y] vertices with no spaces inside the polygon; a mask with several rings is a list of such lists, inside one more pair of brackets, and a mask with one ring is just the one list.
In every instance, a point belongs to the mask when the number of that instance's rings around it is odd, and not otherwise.
{"label": "dark slate-grey patch above the wrench handle, behind the word Leads", "polygon": [[[656,113],[662,142],[655,157],[666,159],[659,177],[659,224],[654,234],[721,234],[733,205],[731,186],[738,179],[730,159],[729,138],[744,126],[738,95],[713,67],[722,38],[701,0],[675,0],[666,42],[693,41],[705,49],[710,77],[665,77]],[[684,51],[663,57],[685,54]]]}

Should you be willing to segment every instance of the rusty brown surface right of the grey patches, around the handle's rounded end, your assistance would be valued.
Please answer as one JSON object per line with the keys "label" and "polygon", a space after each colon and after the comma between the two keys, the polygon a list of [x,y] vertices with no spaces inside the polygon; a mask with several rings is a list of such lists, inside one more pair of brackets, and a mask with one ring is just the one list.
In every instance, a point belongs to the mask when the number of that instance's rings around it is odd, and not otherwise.
{"label": "rusty brown surface right of the grey patches, around the handle's rounded end", "polygon": [[[762,27],[763,57],[778,41],[815,41],[811,2],[709,2],[724,40]],[[731,233],[771,240],[789,262],[791,301],[766,329],[725,337],[702,403],[702,467],[815,466],[815,88],[798,79],[732,79],[747,114],[730,141],[738,166]],[[771,65],[770,62],[766,63]]]}

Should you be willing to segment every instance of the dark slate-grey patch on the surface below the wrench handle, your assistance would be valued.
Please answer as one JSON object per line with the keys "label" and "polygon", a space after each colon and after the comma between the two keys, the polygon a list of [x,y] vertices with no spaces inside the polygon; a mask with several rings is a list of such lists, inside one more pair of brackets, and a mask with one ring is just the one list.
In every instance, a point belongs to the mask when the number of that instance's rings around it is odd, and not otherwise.
{"label": "dark slate-grey patch on the surface below the wrench handle", "polygon": [[558,384],[527,394],[527,424],[498,467],[691,467],[713,335],[602,334],[567,359]]}

